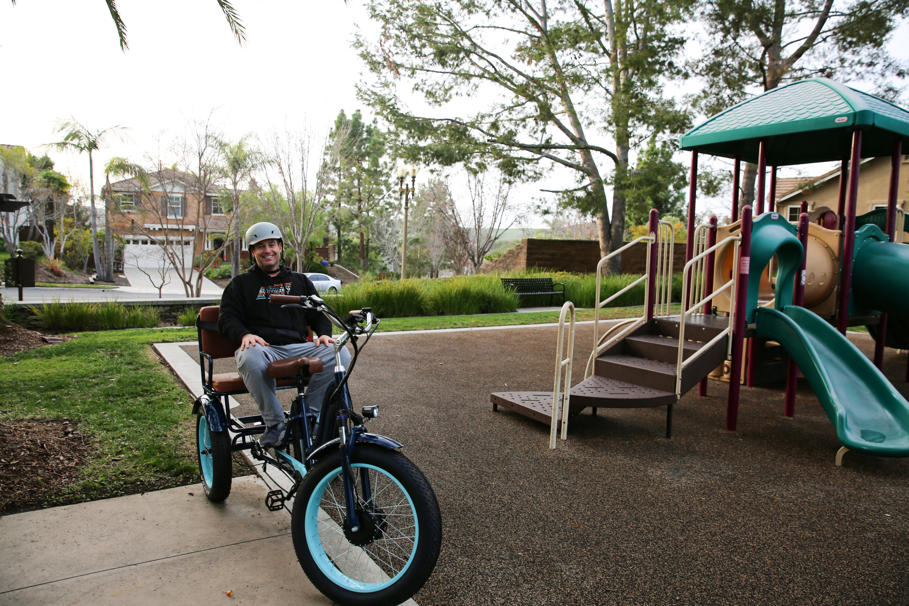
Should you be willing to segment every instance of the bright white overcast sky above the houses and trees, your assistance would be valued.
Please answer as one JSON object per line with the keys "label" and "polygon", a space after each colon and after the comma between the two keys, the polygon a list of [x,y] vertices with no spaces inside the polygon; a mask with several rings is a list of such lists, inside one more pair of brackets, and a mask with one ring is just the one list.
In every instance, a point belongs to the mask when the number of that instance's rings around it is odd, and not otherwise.
{"label": "bright white overcast sky above the houses and trees", "polygon": [[[109,157],[157,154],[157,134],[178,134],[188,119],[205,118],[213,109],[215,123],[237,138],[304,119],[323,130],[340,109],[349,115],[363,107],[355,84],[365,69],[350,43],[357,24],[375,25],[358,0],[235,0],[246,26],[242,47],[215,0],[118,5],[128,28],[126,53],[102,0],[18,0],[15,7],[0,1],[0,143],[40,152],[41,144],[56,140],[56,121],[70,116],[92,129],[129,127],[125,142],[95,155],[97,191],[103,179],[97,167]],[[905,40],[906,24],[889,46],[909,61],[909,45],[895,43]],[[57,170],[87,183],[85,156],[50,155]],[[828,170],[814,168],[801,173]],[[573,186],[569,172],[556,171],[544,183],[521,186],[515,196],[529,202],[540,187]],[[720,210],[726,203],[704,200],[698,206]]]}

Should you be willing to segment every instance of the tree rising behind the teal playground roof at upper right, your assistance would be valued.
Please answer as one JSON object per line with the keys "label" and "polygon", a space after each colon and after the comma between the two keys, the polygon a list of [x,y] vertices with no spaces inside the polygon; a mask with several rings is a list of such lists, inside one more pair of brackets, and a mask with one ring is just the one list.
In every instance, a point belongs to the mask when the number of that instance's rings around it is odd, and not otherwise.
{"label": "tree rising behind the teal playground roof at upper right", "polygon": [[[703,0],[698,15],[707,52],[692,64],[704,79],[694,101],[707,115],[814,76],[864,80],[894,99],[893,78],[909,73],[886,49],[907,0]],[[743,204],[754,200],[756,173],[746,166]]]}

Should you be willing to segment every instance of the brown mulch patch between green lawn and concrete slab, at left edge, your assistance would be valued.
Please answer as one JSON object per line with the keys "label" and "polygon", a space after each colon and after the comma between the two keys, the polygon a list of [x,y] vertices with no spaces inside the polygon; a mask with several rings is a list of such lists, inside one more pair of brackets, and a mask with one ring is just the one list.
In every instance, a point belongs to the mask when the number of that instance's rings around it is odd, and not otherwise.
{"label": "brown mulch patch between green lawn and concrete slab, at left edge", "polygon": [[76,481],[90,450],[74,422],[0,422],[0,513],[53,499]]}

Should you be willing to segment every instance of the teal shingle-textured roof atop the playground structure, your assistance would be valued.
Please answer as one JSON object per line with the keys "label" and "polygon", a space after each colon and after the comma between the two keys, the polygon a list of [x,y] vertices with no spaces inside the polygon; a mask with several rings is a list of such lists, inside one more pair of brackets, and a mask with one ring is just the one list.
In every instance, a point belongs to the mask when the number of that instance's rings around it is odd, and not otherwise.
{"label": "teal shingle-textured roof atop the playground structure", "polygon": [[862,157],[893,153],[895,137],[909,152],[909,110],[873,94],[810,78],[758,94],[682,135],[683,150],[756,163],[767,138],[767,165],[810,164],[849,158],[852,132],[861,128]]}

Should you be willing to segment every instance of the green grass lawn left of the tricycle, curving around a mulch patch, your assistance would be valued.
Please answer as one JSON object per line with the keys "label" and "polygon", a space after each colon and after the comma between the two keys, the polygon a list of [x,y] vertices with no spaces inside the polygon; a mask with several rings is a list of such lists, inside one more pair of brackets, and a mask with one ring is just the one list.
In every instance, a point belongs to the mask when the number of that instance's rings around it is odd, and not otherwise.
{"label": "green grass lawn left of the tricycle, curving around a mulch patch", "polygon": [[194,340],[195,329],[102,331],[0,356],[0,420],[68,419],[95,448],[47,504],[196,482],[192,399],[149,345]]}

